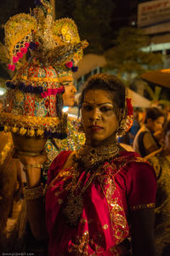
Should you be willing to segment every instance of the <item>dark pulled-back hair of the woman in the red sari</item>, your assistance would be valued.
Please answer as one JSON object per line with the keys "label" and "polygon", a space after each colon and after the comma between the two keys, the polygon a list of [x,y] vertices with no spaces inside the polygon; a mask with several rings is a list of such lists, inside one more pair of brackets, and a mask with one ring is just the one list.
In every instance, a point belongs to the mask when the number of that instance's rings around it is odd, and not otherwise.
{"label": "dark pulled-back hair of the woman in the red sari", "polygon": [[[126,98],[126,90],[125,86],[120,79],[117,79],[116,76],[108,74],[108,73],[99,73],[91,76],[86,84],[84,84],[82,88],[82,93],[79,98],[79,112],[82,108],[82,103],[84,101],[84,96],[88,92],[88,90],[107,90],[110,92],[112,97],[112,102],[115,106],[115,113],[117,119],[120,119],[120,110],[125,110],[125,98]],[[127,114],[127,113],[126,113]],[[125,116],[124,116],[125,118]]]}

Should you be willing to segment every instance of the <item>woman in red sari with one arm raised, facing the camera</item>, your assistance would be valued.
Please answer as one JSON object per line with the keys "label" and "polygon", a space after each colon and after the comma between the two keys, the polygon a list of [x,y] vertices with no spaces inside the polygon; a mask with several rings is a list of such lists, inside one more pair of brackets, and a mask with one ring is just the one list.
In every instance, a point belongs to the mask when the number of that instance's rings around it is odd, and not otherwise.
{"label": "woman in red sari with one arm raised, facing the camera", "polygon": [[129,236],[133,256],[155,255],[155,172],[116,142],[127,131],[126,101],[124,84],[115,76],[88,79],[80,98],[86,143],[54,159],[45,201],[39,165],[46,157],[20,155],[31,230],[37,240],[48,239],[49,256],[127,256]]}

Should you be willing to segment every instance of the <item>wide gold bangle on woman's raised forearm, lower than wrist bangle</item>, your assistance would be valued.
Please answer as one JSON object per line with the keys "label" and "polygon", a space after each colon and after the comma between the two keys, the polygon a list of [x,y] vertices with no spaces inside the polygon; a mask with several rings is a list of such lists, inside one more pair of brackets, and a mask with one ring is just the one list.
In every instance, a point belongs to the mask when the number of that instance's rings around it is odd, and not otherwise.
{"label": "wide gold bangle on woman's raised forearm, lower than wrist bangle", "polygon": [[24,188],[24,196],[26,200],[34,200],[43,196],[43,184],[36,188],[27,189]]}

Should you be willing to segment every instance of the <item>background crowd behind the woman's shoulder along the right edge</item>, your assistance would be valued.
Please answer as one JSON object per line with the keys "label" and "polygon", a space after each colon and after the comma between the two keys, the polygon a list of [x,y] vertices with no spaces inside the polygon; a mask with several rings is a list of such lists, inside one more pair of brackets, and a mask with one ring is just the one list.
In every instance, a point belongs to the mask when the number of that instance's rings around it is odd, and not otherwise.
{"label": "background crowd behind the woman's shoulder along the right edge", "polygon": [[155,238],[157,255],[170,255],[170,111],[169,108],[134,109],[133,125],[121,143],[148,160],[156,171]]}

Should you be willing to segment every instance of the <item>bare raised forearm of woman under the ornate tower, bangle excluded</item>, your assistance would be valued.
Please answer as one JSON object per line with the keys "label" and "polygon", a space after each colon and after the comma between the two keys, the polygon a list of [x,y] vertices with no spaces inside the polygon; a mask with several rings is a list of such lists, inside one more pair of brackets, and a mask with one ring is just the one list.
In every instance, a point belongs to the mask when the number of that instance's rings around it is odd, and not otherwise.
{"label": "bare raised forearm of woman under the ornate tower, bangle excluded", "polygon": [[[26,168],[26,184],[28,190],[41,185],[41,168],[34,167],[34,165],[41,165],[45,160],[46,156],[44,155],[36,157],[20,156],[20,161],[24,166],[32,165]],[[37,199],[26,200],[26,211],[32,234],[37,240],[47,239],[48,232],[45,225],[45,204],[43,196],[40,195]]]}

